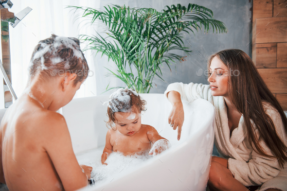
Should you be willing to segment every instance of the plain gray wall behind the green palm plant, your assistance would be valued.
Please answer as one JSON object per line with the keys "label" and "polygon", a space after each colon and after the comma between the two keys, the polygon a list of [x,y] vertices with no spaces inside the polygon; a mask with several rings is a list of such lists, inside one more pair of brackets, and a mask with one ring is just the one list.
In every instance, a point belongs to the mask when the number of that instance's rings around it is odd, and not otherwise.
{"label": "plain gray wall behind the green palm plant", "polygon": [[[143,3],[143,4],[142,4]],[[174,82],[183,83],[202,83],[207,84],[207,76],[204,73],[197,76],[197,71],[204,72],[207,68],[208,57],[218,51],[224,49],[240,49],[251,56],[251,7],[252,2],[248,0],[101,0],[101,9],[108,4],[126,5],[129,7],[153,7],[158,11],[164,9],[165,5],[178,4],[187,6],[188,3],[195,3],[211,9],[214,13],[214,18],[224,22],[227,26],[227,34],[213,34],[212,31],[208,34],[196,32],[196,35],[182,34],[184,37],[185,46],[192,45],[191,55],[186,57],[186,61],[179,62],[171,67],[172,72],[167,66],[162,68],[163,79],[165,82],[155,79],[150,93],[163,93],[168,84]],[[189,43],[188,43],[189,42]],[[250,43],[249,43],[250,42]],[[249,44],[248,44],[249,43]],[[247,45],[248,44],[248,45]],[[198,53],[199,52],[199,53]],[[182,54],[183,56],[184,53]],[[106,90],[108,83],[109,87],[123,86],[123,82],[114,77],[105,77],[109,69],[115,70],[112,62],[100,54],[95,59],[95,74],[97,83],[97,95],[110,94],[114,90],[102,93]],[[176,68],[175,68],[176,67]]]}

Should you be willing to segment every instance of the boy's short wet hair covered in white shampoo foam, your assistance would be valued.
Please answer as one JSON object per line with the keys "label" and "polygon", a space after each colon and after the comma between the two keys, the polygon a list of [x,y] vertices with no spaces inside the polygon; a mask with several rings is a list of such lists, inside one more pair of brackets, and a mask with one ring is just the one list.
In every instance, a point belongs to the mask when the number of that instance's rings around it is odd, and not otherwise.
{"label": "boy's short wet hair covered in white shampoo foam", "polygon": [[40,40],[35,47],[29,66],[30,79],[40,74],[43,79],[66,72],[76,74],[74,86],[87,78],[89,67],[80,41],[73,37],[52,35]]}

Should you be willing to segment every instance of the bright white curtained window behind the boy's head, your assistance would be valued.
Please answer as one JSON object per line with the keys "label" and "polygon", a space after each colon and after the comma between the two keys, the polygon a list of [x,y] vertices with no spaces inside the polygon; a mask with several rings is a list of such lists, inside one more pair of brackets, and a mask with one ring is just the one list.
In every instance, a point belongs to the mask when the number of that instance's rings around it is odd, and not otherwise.
{"label": "bright white curtained window behind the boy's head", "polygon": [[[80,4],[79,4],[80,3]],[[67,5],[99,7],[100,1],[95,0],[13,0],[10,12],[17,14],[27,6],[33,10],[18,23],[15,28],[9,26],[12,87],[18,97],[22,94],[28,80],[28,65],[32,52],[39,40],[51,34],[58,36],[78,37],[80,34],[95,35],[95,27],[78,27],[81,20],[74,21],[71,9]],[[85,47],[81,45],[81,49]],[[74,98],[96,95],[96,78],[94,71],[94,53],[86,51],[85,58],[90,73],[84,85],[77,91]],[[2,60],[2,58],[1,58]],[[2,74],[0,74],[0,77]],[[2,83],[2,82],[0,82]],[[3,91],[0,88],[0,107],[4,108]]]}

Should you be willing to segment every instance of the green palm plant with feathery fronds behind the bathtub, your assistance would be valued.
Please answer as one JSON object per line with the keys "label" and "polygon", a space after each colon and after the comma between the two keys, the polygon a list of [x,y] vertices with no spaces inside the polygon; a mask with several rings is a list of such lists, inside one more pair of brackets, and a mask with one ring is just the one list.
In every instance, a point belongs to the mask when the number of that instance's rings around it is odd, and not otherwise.
{"label": "green palm plant with feathery fronds behind the bathtub", "polygon": [[[207,33],[213,29],[213,33],[227,33],[225,24],[214,19],[212,10],[191,3],[187,7],[180,4],[166,6],[162,12],[125,5],[107,6],[105,10],[69,7],[80,11],[78,16],[87,17],[91,24],[96,20],[106,24],[108,37],[98,33],[98,36],[80,35],[80,39],[88,43],[85,50],[107,55],[118,68],[116,72],[108,69],[109,75],[121,79],[138,93],[148,93],[156,76],[163,80],[163,64],[171,71],[171,63],[185,60],[186,56],[177,52],[190,55],[190,45],[184,46],[180,32],[195,34],[195,31],[204,30]],[[132,72],[132,67],[137,73]],[[112,88],[117,87],[109,89]]]}

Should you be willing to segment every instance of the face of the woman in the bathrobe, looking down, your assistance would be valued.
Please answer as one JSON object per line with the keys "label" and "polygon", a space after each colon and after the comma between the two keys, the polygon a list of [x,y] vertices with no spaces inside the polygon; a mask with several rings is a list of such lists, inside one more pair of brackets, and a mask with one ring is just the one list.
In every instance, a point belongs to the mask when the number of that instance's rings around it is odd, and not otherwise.
{"label": "face of the woman in the bathrobe, looking down", "polygon": [[211,94],[213,96],[227,97],[229,86],[228,68],[217,56],[211,61],[209,74],[210,76],[207,80],[210,82]]}

